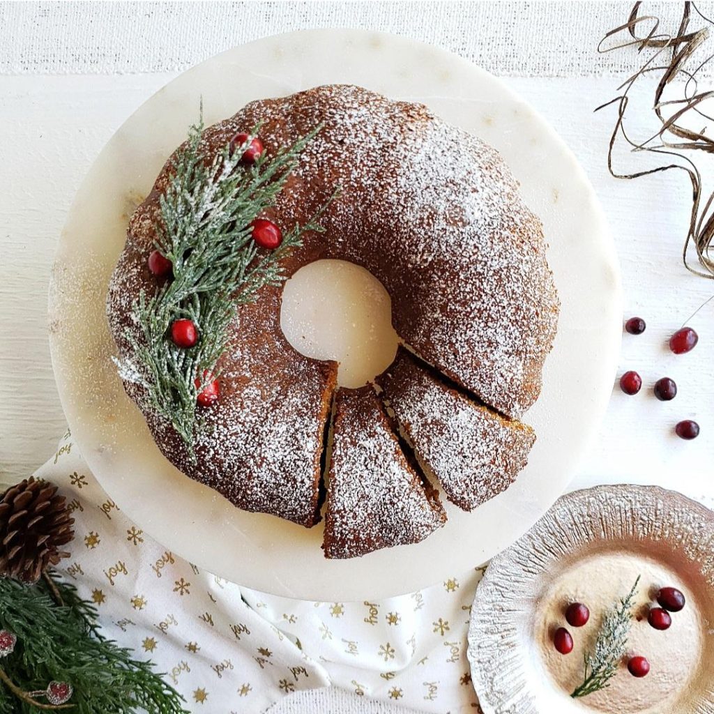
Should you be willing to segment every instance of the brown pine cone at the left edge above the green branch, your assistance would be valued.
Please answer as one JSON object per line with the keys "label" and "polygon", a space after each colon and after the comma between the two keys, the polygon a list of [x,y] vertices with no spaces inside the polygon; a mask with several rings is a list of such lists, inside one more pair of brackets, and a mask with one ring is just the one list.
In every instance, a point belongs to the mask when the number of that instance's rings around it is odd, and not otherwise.
{"label": "brown pine cone at the left edge above the green branch", "polygon": [[0,496],[0,577],[36,583],[42,571],[69,556],[74,538],[64,496],[54,483],[26,478]]}

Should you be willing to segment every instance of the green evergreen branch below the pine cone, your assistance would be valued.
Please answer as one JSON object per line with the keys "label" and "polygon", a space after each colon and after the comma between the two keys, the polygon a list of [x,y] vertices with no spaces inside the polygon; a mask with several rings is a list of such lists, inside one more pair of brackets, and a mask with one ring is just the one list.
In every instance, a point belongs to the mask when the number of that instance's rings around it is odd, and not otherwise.
{"label": "green evergreen branch below the pine cone", "polygon": [[[72,714],[188,714],[183,698],[150,661],[101,635],[93,605],[50,575],[22,585],[0,578],[0,629],[17,635],[15,650],[0,670],[24,692],[44,690],[51,680],[72,685]],[[63,604],[56,603],[56,590]],[[0,714],[41,714],[0,680]]]}

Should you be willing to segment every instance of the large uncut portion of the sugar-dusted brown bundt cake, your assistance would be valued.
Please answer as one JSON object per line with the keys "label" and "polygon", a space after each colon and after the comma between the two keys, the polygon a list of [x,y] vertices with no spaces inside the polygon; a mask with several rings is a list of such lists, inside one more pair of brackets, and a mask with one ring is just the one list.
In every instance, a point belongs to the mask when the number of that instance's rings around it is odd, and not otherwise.
{"label": "large uncut portion of the sugar-dusted brown bundt cake", "polygon": [[[531,406],[558,299],[540,221],[498,153],[425,106],[336,85],[253,101],[209,127],[202,150],[213,156],[258,123],[268,155],[324,124],[266,218],[286,231],[341,187],[321,218],[326,232],[306,236],[285,263],[288,276],[318,258],[363,266],[390,294],[403,341],[498,411],[518,416]],[[156,289],[146,259],[168,178],[169,164],[132,216],[111,278],[107,311],[121,358],[133,356],[123,335],[137,329],[132,303],[142,288]],[[279,324],[280,303],[281,288],[264,288],[256,303],[239,308],[221,362],[221,401],[207,410],[196,464],[141,389],[126,384],[126,391],[181,471],[240,508],[309,526],[318,518],[336,366],[291,348]]]}

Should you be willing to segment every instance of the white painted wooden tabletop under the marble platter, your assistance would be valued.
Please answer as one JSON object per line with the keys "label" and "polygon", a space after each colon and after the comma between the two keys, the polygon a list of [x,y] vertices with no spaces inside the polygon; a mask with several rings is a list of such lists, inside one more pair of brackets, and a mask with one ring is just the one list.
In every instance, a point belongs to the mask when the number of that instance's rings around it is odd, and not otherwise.
{"label": "white painted wooden tabletop under the marble platter", "polygon": [[[376,9],[370,11],[359,9],[361,21],[365,14],[369,21],[369,13],[372,13],[373,26],[388,29],[383,26],[388,18],[378,14],[378,11],[386,12],[383,7],[381,10],[377,8],[384,5],[376,3]],[[609,15],[604,6],[588,6],[593,23],[603,30],[613,18],[612,25],[627,11],[626,4],[620,4],[618,11],[610,7]],[[402,26],[402,31],[408,34],[409,22],[413,21],[418,26],[413,36],[428,34],[423,22],[418,20],[413,4],[409,8],[412,14],[401,16],[407,28],[404,30]],[[339,7],[333,10],[345,12]],[[0,20],[6,12],[8,9],[0,5]],[[91,19],[92,12],[87,12]],[[106,13],[106,9],[101,12]],[[201,12],[207,11],[203,9]],[[276,17],[282,17],[283,22],[289,21],[290,18],[284,16],[286,12],[283,16],[274,13],[273,23],[278,21]],[[325,7],[313,12],[321,13],[321,23],[328,21]],[[502,24],[505,22],[506,15],[500,9],[488,11],[480,6],[471,12],[472,21],[476,20],[476,14],[481,20],[483,16],[488,19],[488,12],[491,12],[491,16],[498,16]],[[520,21],[536,21],[533,32],[537,35],[543,28],[547,31],[550,26],[552,30],[560,21],[561,12],[562,8],[550,6],[535,20],[531,13],[521,17]],[[587,16],[587,8],[578,12]],[[164,19],[169,23],[167,33],[170,35],[176,28],[171,25],[169,11],[166,13],[168,19]],[[311,24],[308,10],[306,13],[300,16],[303,26]],[[466,20],[468,16],[464,22]],[[503,35],[503,42],[508,41],[513,31],[521,32],[523,36],[524,29],[518,24],[518,16],[512,16],[511,22],[516,24],[515,29],[499,30],[501,26],[498,24],[491,28],[497,36]],[[125,33],[130,33],[132,26],[136,27],[131,23],[127,13]],[[471,26],[480,27],[478,24]],[[177,74],[176,69],[141,74],[116,74],[116,71],[94,74],[91,61],[87,60],[95,51],[101,54],[101,47],[99,50],[95,46],[89,48],[86,37],[81,42],[77,40],[80,50],[89,54],[84,59],[80,56],[71,66],[75,74],[43,74],[48,69],[58,69],[44,62],[42,57],[46,59],[46,53],[33,44],[39,41],[38,37],[46,38],[46,35],[35,30],[32,36],[2,36],[3,28],[8,27],[7,22],[0,22],[1,44],[14,43],[10,59],[4,58],[0,51],[0,126],[3,127],[0,132],[0,482],[6,483],[28,475],[45,461],[64,431],[64,418],[49,358],[46,294],[54,246],[74,191],[91,161],[126,116]],[[248,39],[245,28],[241,27],[241,39]],[[84,33],[85,28],[77,30]],[[580,34],[586,30],[588,28],[580,26],[576,29]],[[89,24],[90,36],[98,31]],[[483,37],[485,31],[481,29],[481,33]],[[256,29],[253,36],[264,34],[271,34],[269,25]],[[102,41],[108,42],[105,35]],[[121,28],[114,28],[113,36],[119,48],[117,53],[121,54]],[[466,35],[462,33],[463,36]],[[598,36],[597,32],[592,36]],[[221,42],[228,41],[223,35],[220,37]],[[443,39],[443,44],[449,46],[453,35],[443,33]],[[206,46],[205,40],[203,37],[203,44],[198,49],[189,48],[187,53],[199,51],[203,52],[202,56],[208,56],[221,49],[218,41]],[[480,47],[478,33],[469,41],[473,43],[471,50]],[[22,45],[19,49],[18,43]],[[65,45],[62,47],[62,51],[74,56],[71,46],[69,50]],[[463,54],[471,52],[471,56],[479,56],[478,51],[470,51],[467,45],[464,47]],[[34,55],[29,51],[33,48]],[[575,51],[575,48],[563,46],[560,51],[565,53]],[[106,60],[106,56],[119,54],[104,51],[102,56]],[[36,71],[32,71],[31,63],[23,66],[18,57],[34,58]],[[506,64],[512,59],[509,58],[508,53],[501,55],[501,61]],[[5,64],[3,59],[6,59]],[[498,56],[494,60],[492,54],[490,61],[498,61]],[[591,64],[598,61],[601,62],[593,52]],[[545,71],[563,76],[511,76],[507,79],[513,89],[555,126],[593,182],[620,254],[626,316],[641,316],[648,324],[641,336],[623,336],[620,360],[620,372],[630,368],[640,372],[643,390],[638,396],[627,397],[615,388],[603,426],[575,476],[573,488],[594,483],[657,483],[714,506],[711,468],[714,301],[689,323],[700,336],[695,351],[674,356],[666,346],[670,334],[714,294],[714,281],[691,276],[680,261],[690,188],[683,174],[658,174],[630,182],[610,178],[605,166],[605,152],[614,113],[610,110],[593,115],[593,109],[614,96],[618,81],[613,76],[586,76],[583,67],[587,64],[578,59],[573,65],[575,74],[568,76],[568,65],[563,62],[558,65],[550,57],[543,61]],[[538,70],[526,60],[523,66],[528,66],[530,74]],[[598,66],[600,69],[618,69]],[[83,67],[84,71],[81,71]],[[511,74],[514,68],[518,68],[518,62],[508,65]],[[498,70],[498,66],[491,69]],[[1,74],[3,71],[14,74]],[[24,74],[17,74],[18,71],[24,71]],[[633,111],[641,112],[633,115],[635,121],[641,119],[646,124],[649,111],[636,108]],[[640,159],[623,156],[623,161],[635,166]],[[583,300],[587,299],[588,296],[583,295]],[[660,376],[671,376],[678,383],[678,396],[669,403],[658,402],[652,394],[651,386]],[[572,388],[578,388],[577,375],[573,375]],[[674,436],[673,426],[683,418],[695,418],[700,423],[701,435],[695,441],[685,442]],[[357,700],[339,693],[301,693],[278,705],[275,711],[278,710],[345,713],[360,710],[381,714],[394,709],[376,704],[363,708]]]}

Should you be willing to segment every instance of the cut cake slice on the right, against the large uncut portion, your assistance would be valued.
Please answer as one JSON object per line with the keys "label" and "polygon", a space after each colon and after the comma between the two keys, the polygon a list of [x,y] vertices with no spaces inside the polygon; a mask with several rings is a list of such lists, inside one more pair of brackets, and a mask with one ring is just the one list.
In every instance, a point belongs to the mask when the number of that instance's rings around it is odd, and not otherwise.
{"label": "cut cake slice on the right, against the large uncut portion", "polygon": [[526,466],[535,441],[530,426],[451,388],[405,348],[377,383],[426,473],[464,511],[506,491]]}

